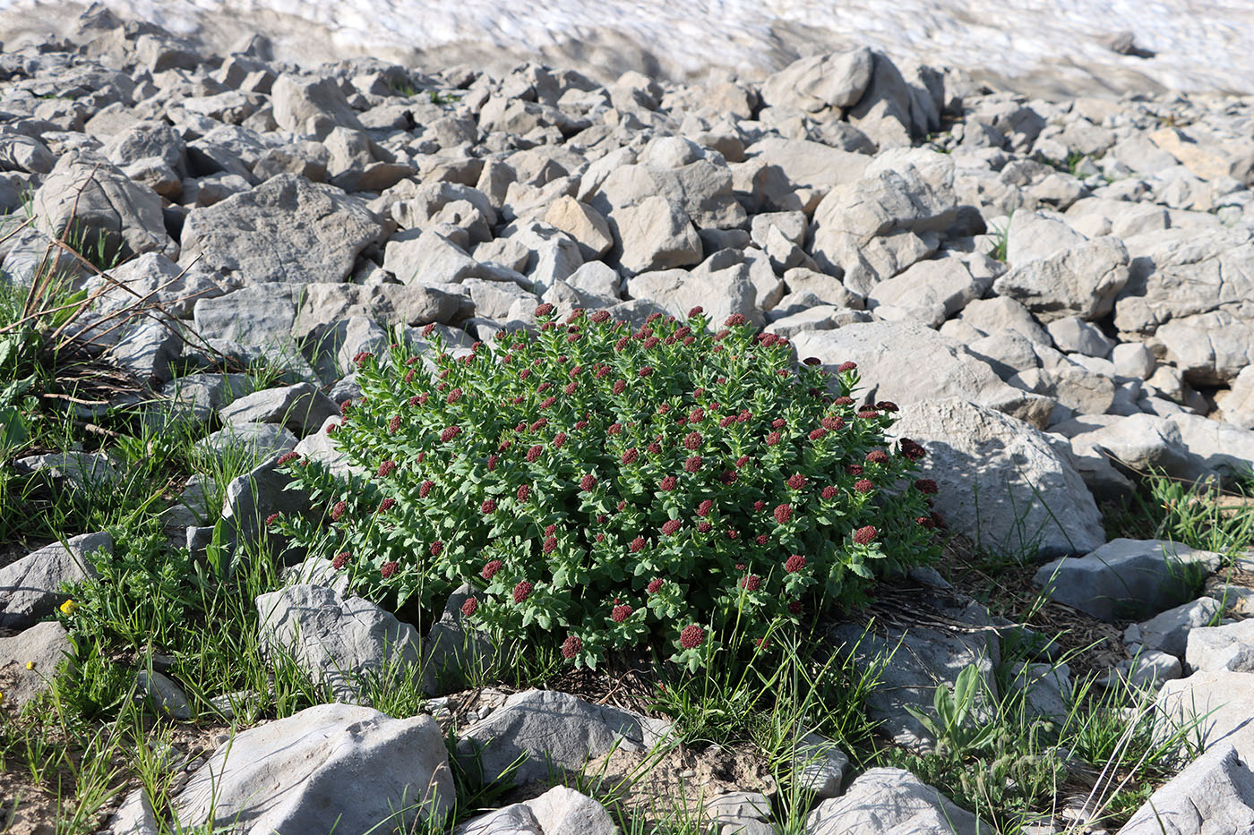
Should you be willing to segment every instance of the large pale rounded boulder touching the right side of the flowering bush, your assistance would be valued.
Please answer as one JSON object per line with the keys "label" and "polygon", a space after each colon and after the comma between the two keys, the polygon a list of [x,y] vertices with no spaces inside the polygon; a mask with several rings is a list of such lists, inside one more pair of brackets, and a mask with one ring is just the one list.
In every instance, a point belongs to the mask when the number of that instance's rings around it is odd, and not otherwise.
{"label": "large pale rounded boulder touching the right side of the flowering bush", "polygon": [[897,419],[890,431],[928,450],[937,513],[977,547],[1036,558],[1105,544],[1092,494],[1045,433],[961,397],[907,404]]}

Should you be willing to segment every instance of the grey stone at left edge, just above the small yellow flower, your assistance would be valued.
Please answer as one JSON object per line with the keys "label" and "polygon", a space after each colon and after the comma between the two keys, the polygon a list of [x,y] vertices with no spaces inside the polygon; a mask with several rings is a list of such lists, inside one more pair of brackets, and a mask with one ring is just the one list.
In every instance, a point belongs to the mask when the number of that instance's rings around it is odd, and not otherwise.
{"label": "grey stone at left edge, just above the small yellow flower", "polygon": [[0,568],[0,626],[25,629],[69,599],[63,583],[98,577],[92,557],[113,555],[113,537],[107,533],[73,537],[34,550]]}

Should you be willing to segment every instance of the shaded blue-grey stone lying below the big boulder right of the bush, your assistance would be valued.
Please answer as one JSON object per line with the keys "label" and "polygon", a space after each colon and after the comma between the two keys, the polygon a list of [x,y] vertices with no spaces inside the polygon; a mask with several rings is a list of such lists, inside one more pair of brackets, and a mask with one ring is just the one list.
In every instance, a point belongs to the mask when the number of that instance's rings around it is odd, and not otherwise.
{"label": "shaded blue-grey stone lying below the big boulder right of the bush", "polygon": [[1032,582],[1051,601],[1112,623],[1157,614],[1191,599],[1221,557],[1159,539],[1114,539],[1083,557],[1046,563]]}

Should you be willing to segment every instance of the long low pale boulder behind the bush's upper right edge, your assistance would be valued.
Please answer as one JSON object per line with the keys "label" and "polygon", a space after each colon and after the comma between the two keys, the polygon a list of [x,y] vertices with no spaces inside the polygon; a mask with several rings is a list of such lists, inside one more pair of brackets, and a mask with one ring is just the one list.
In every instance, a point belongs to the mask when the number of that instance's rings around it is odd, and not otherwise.
{"label": "long low pale boulder behind the bush's upper right edge", "polygon": [[[959,342],[915,322],[865,322],[793,337],[798,357],[818,357],[828,371],[858,364],[869,402],[899,405],[957,396],[1045,428],[1053,401],[1008,386]],[[927,357],[919,362],[918,357]]]}

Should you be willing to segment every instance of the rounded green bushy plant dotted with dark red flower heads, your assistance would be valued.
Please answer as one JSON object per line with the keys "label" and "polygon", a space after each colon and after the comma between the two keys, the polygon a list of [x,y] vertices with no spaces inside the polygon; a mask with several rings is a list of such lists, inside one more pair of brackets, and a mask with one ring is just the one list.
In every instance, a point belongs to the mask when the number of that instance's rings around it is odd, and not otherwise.
{"label": "rounded green bushy plant dotted with dark red flower heads", "polygon": [[364,597],[435,607],[469,583],[472,624],[589,667],[653,641],[695,670],[725,629],[764,637],[934,557],[925,451],[885,444],[897,406],[856,406],[853,364],[796,365],[700,308],[537,316],[460,355],[436,335],[360,356],[332,426],[359,474],[290,455],[322,515],[276,523]]}

